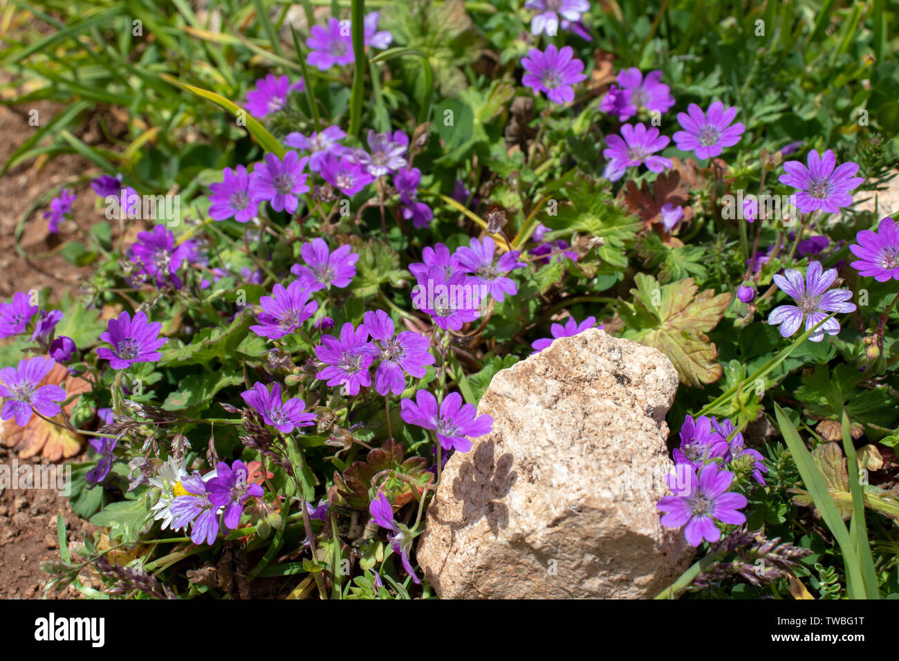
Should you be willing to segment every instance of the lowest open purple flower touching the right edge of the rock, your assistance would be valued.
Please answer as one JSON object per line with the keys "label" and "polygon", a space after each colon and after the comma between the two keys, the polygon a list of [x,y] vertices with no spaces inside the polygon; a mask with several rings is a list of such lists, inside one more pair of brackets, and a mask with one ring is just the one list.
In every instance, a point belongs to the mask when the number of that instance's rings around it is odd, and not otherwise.
{"label": "lowest open purple flower touching the right edge of the rock", "polygon": [[[718,469],[717,464],[710,463],[696,475],[692,467],[683,469],[686,477],[686,493],[681,496],[664,496],[656,505],[665,514],[662,525],[666,528],[680,528],[686,524],[684,537],[691,546],[699,546],[702,540],[717,541],[721,539],[721,531],[715,525],[715,519],[722,523],[740,525],[746,522],[741,507],[748,503],[746,496],[727,491],[734,481],[734,473]],[[668,476],[669,486],[673,478]]]}

